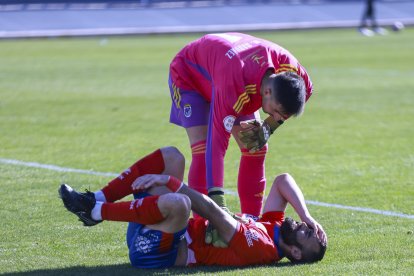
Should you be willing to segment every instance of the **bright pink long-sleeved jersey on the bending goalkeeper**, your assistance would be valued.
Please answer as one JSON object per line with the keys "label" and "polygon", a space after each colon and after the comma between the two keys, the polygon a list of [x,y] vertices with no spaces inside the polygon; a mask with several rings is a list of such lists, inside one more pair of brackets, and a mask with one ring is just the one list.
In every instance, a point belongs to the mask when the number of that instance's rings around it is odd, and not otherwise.
{"label": "bright pink long-sleeved jersey on the bending goalkeeper", "polygon": [[[306,100],[311,96],[312,82],[292,54],[277,44],[246,34],[203,36],[185,46],[171,62],[172,87],[198,93],[210,102],[208,188],[223,186],[224,155],[234,121],[262,106],[260,87],[267,70],[296,72],[305,82]],[[179,92],[173,100],[180,100]]]}

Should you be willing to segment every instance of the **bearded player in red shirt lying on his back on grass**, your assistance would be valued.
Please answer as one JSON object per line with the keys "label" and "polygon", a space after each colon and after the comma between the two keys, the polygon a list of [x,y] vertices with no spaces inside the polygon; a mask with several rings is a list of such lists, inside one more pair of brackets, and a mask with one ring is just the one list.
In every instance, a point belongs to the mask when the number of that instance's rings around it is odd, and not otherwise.
{"label": "bearded player in red shirt lying on his back on grass", "polygon": [[[102,190],[78,193],[59,189],[65,207],[85,226],[102,220],[129,222],[127,245],[131,263],[139,268],[185,265],[246,266],[272,264],[283,257],[294,263],[323,258],[326,234],[309,214],[303,194],[289,174],[275,178],[263,215],[235,219],[209,197],[181,180],[184,157],[174,147],[158,149],[137,161]],[[129,194],[135,200],[117,202]],[[290,203],[302,222],[284,219]],[[227,243],[205,243],[207,221],[190,219],[191,209],[209,220]]]}

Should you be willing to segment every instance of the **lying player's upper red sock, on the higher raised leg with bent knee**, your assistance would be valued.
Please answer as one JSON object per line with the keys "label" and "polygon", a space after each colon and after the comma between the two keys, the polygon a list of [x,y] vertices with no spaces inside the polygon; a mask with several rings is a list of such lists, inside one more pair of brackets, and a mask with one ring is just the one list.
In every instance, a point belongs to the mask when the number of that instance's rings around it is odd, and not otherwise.
{"label": "lying player's upper red sock, on the higher raised leg with bent knee", "polygon": [[132,183],[137,177],[145,174],[161,174],[164,171],[164,158],[161,150],[138,160],[134,165],[125,170],[120,176],[112,180],[102,189],[107,202],[114,202],[133,193]]}

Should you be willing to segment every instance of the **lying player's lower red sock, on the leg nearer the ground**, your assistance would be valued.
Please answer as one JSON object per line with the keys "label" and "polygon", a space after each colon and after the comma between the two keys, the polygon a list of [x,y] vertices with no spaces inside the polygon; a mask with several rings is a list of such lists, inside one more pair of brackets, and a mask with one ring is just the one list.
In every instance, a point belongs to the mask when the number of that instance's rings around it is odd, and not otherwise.
{"label": "lying player's lower red sock, on the leg nearer the ground", "polygon": [[129,202],[104,203],[101,209],[102,219],[157,224],[165,219],[158,208],[158,198],[159,196],[147,196]]}

